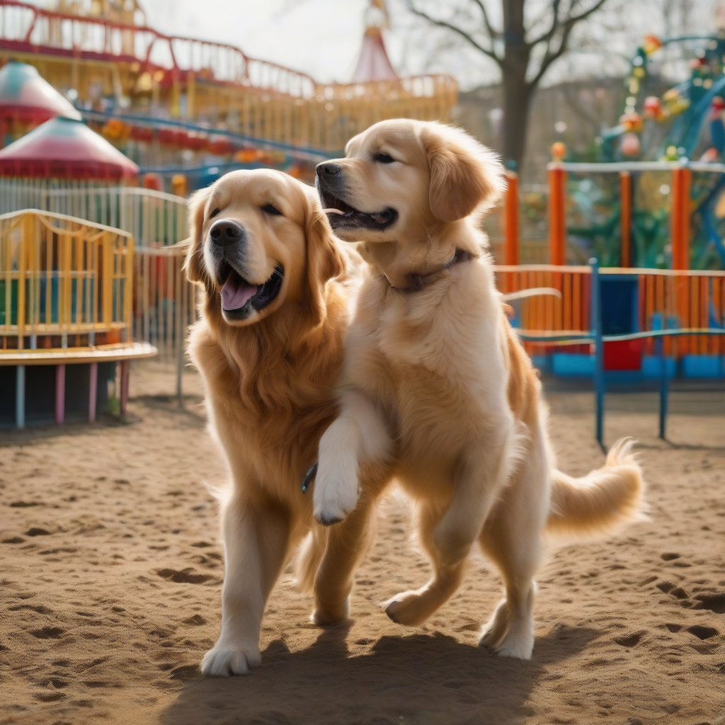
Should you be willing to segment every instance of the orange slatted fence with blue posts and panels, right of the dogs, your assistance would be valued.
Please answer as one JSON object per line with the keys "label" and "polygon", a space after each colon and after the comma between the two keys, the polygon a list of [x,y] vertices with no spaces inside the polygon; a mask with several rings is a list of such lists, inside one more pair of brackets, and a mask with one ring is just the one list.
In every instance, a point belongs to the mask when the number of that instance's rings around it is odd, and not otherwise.
{"label": "orange slatted fence with blue posts and panels, right of the dogs", "polygon": [[[621,349],[639,357],[637,376],[634,370],[625,373],[630,380],[659,381],[662,438],[674,368],[679,365],[686,373],[695,368],[706,377],[725,375],[725,272],[601,269],[592,259],[588,266],[500,266],[496,273],[502,290],[547,287],[561,292],[560,298],[521,299],[513,324],[535,363],[546,365],[543,349],[553,352],[554,372],[592,376],[602,447],[606,384],[617,375],[605,373],[611,370],[608,359],[621,360]],[[623,327],[627,315],[629,324]],[[558,352],[572,348],[574,355]]]}

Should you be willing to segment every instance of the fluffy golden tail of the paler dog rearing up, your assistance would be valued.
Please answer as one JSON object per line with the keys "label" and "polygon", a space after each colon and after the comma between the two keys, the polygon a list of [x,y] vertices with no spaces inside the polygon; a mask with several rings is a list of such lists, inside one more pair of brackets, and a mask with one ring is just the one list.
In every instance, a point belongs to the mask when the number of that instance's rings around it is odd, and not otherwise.
{"label": "fluffy golden tail of the paler dog rearing up", "polygon": [[547,531],[552,534],[602,534],[645,516],[645,481],[632,453],[631,438],[618,440],[602,468],[574,479],[553,472]]}

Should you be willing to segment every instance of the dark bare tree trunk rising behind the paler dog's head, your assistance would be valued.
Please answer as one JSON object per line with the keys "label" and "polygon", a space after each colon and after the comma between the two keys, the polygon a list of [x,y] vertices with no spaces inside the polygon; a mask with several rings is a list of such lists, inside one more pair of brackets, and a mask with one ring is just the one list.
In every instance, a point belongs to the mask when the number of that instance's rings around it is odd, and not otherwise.
{"label": "dark bare tree trunk rising behind the paler dog's head", "polygon": [[526,128],[533,88],[526,83],[531,49],[526,45],[523,25],[525,0],[502,0],[504,57],[501,62],[503,83],[503,157],[521,175],[526,150]]}

